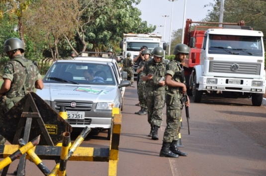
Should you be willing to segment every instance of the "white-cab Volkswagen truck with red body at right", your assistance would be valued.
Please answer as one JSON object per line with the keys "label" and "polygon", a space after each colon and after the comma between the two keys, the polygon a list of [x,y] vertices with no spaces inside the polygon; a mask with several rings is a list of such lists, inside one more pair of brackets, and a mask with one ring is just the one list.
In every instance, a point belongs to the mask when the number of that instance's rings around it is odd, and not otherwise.
{"label": "white-cab Volkswagen truck with red body at right", "polygon": [[203,94],[251,97],[253,106],[261,106],[266,89],[263,36],[262,31],[228,26],[191,37],[184,65],[194,63],[189,77],[193,101],[200,102]]}

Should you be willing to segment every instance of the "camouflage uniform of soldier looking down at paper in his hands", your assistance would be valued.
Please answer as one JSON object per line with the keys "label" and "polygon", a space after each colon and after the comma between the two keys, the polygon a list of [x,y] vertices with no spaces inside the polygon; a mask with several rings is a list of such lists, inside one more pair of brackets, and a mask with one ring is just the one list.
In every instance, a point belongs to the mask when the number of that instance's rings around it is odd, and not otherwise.
{"label": "camouflage uniform of soldier looking down at paper in his hands", "polygon": [[154,59],[148,61],[140,75],[140,77],[154,74],[153,79],[146,81],[147,90],[147,107],[148,107],[148,122],[152,126],[161,127],[163,121],[163,108],[165,106],[166,86],[160,86],[158,82],[162,77],[165,77],[166,64],[162,58],[161,62],[156,63]]}

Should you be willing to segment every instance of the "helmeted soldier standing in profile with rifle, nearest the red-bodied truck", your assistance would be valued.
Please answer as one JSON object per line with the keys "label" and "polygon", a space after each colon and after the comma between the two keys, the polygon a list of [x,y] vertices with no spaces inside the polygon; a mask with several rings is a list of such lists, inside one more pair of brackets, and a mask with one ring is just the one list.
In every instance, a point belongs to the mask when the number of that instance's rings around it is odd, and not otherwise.
{"label": "helmeted soldier standing in profile with rifle, nearest the red-bodied truck", "polygon": [[[181,98],[186,96],[186,85],[184,77],[181,78],[180,72],[183,72],[182,65],[184,59],[189,54],[189,48],[185,44],[177,44],[175,47],[175,59],[171,60],[166,68],[165,83],[168,86],[166,95],[166,122],[167,126],[164,133],[163,146],[160,151],[160,157],[178,158],[178,156],[187,156],[187,153],[181,152],[177,148],[177,140],[180,132],[180,118],[182,112]],[[181,82],[182,81],[182,82]],[[189,98],[185,106],[189,106]]]}

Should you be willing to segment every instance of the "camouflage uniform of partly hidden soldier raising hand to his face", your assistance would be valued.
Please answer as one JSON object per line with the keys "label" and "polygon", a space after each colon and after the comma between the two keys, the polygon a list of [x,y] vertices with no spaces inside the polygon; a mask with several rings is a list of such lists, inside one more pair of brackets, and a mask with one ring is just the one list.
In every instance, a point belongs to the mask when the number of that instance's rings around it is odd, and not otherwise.
{"label": "camouflage uniform of partly hidden soldier raising hand to his face", "polygon": [[[142,68],[145,63],[147,63],[149,60],[151,60],[152,58],[149,57],[149,59],[147,61],[143,60],[140,62],[138,69]],[[139,75],[141,74],[142,72],[139,73]],[[147,91],[146,91],[146,86],[145,86],[145,81],[142,81],[141,79],[139,80],[139,83],[138,83],[138,97],[139,97],[139,103],[140,103],[140,107],[142,109],[147,109],[147,104],[146,104],[146,97],[147,97]]]}

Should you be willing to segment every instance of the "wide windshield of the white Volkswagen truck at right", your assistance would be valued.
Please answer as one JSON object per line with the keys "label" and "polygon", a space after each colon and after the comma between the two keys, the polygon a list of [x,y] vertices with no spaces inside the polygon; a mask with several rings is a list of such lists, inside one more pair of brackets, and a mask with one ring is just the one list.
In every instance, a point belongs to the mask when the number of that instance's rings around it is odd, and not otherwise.
{"label": "wide windshield of the white Volkswagen truck at right", "polygon": [[209,54],[263,56],[260,36],[215,35],[208,40]]}

